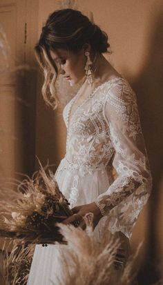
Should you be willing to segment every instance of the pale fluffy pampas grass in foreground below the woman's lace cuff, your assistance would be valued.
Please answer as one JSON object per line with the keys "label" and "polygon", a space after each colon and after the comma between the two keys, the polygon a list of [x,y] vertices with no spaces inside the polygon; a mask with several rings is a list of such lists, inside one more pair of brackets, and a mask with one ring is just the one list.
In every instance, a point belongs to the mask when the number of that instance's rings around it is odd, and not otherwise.
{"label": "pale fluffy pampas grass in foreground below the woman's lace cuff", "polygon": [[61,263],[61,273],[57,277],[57,285],[133,284],[137,273],[134,264],[139,249],[135,256],[125,261],[121,242],[108,232],[107,222],[99,243],[91,219],[91,213],[86,215],[86,231],[72,225],[58,225],[67,245],[60,245],[61,256],[58,262]]}

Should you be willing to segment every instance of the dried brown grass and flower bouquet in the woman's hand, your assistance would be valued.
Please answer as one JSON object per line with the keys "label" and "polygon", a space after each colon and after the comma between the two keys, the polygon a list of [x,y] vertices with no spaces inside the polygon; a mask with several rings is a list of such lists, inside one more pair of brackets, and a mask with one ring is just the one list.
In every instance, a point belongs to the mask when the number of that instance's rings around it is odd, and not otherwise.
{"label": "dried brown grass and flower bouquet in the woman's hand", "polygon": [[39,172],[23,181],[17,191],[1,193],[1,237],[21,239],[26,244],[63,242],[56,222],[73,213],[50,170],[46,175],[40,164]]}

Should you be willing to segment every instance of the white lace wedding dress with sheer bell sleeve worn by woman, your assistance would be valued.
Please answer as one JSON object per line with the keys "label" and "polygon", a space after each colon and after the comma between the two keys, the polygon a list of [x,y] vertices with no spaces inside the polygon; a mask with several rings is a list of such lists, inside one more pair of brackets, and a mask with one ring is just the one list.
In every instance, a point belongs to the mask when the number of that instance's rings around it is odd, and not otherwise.
{"label": "white lace wedding dress with sheer bell sleeve worn by woman", "polygon": [[[77,96],[64,108],[67,143],[55,173],[59,188],[72,207],[96,202],[109,230],[129,238],[151,192],[135,93],[126,79],[115,77],[95,88],[70,118]],[[99,241],[106,217],[95,228]],[[36,246],[28,285],[57,285],[58,257],[57,246]]]}

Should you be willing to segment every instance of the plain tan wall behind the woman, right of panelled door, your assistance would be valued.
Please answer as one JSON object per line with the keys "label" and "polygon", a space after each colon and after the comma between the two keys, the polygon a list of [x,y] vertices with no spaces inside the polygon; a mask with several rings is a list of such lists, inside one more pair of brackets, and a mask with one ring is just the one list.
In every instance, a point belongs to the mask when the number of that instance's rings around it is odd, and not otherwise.
{"label": "plain tan wall behind the woman, right of panelled door", "polygon": [[[113,66],[128,79],[137,93],[142,128],[153,173],[153,194],[138,219],[131,239],[132,248],[144,238],[140,262],[155,275],[155,260],[162,259],[162,0],[83,0],[79,10],[93,12],[95,23],[108,33]],[[39,27],[57,8],[57,1],[39,1]],[[38,32],[38,35],[39,35]],[[41,78],[37,92],[36,154],[43,164],[59,164],[65,153],[66,129],[61,110],[54,112],[41,99]],[[144,263],[143,263],[144,262]],[[157,266],[156,266],[157,267]],[[150,277],[151,274],[151,277]],[[145,277],[144,277],[145,278]],[[145,279],[144,279],[145,280]],[[145,281],[144,281],[145,282]],[[145,285],[147,283],[144,283]],[[151,284],[151,283],[148,283]]]}

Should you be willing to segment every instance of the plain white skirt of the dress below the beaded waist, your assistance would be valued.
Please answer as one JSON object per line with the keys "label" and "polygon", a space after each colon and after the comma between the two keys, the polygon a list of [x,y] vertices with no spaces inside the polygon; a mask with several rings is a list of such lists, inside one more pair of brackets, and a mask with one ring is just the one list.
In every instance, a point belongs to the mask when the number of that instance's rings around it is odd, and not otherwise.
{"label": "plain white skirt of the dress below the beaded waist", "polygon": [[[108,168],[75,170],[70,168],[66,159],[62,159],[61,164],[55,173],[55,179],[65,197],[70,201],[72,207],[88,204],[95,201],[97,196],[104,193],[113,183],[111,170]],[[95,228],[95,236],[100,242],[104,219],[100,219]],[[128,256],[128,238],[120,232],[115,233],[123,241],[124,259]],[[61,246],[50,245],[43,247],[35,246],[35,253],[30,268],[28,285],[58,285],[58,278],[64,274],[62,264],[59,260]],[[115,275],[119,275],[122,268],[116,270]]]}

